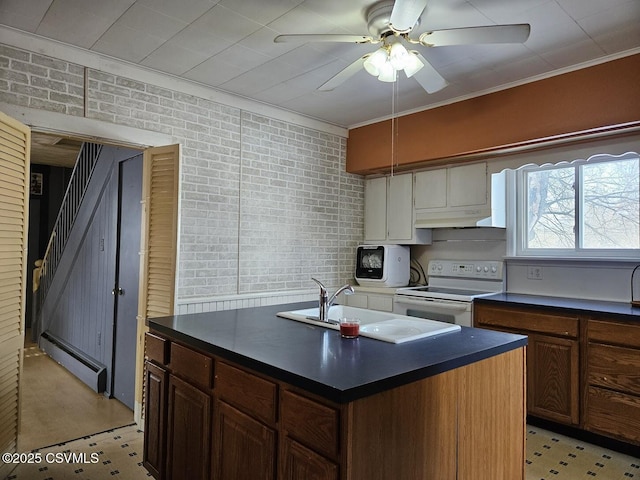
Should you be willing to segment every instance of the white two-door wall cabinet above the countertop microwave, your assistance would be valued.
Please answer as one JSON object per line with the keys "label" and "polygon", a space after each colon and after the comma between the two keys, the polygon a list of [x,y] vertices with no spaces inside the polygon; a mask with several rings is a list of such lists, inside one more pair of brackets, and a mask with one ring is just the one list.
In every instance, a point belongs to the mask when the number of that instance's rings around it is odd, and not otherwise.
{"label": "white two-door wall cabinet above the countertop microwave", "polygon": [[431,230],[414,226],[412,173],[367,179],[364,194],[365,243],[431,243]]}

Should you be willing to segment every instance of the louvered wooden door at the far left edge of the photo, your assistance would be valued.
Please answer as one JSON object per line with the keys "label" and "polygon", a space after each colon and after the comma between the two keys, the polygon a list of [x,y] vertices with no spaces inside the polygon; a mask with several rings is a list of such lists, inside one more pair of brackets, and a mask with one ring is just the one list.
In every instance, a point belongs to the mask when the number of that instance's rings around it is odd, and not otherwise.
{"label": "louvered wooden door at the far left edge of the photo", "polygon": [[[31,130],[0,112],[0,452],[18,450]],[[0,478],[15,467],[0,459]]]}

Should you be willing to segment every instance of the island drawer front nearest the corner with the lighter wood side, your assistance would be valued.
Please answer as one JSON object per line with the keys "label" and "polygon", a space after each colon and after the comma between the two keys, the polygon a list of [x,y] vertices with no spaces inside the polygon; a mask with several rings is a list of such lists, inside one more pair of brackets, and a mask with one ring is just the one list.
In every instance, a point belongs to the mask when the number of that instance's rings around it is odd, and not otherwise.
{"label": "island drawer front nearest the corner with the lighter wood side", "polygon": [[285,390],[280,413],[291,437],[323,455],[338,455],[340,415],[336,409]]}

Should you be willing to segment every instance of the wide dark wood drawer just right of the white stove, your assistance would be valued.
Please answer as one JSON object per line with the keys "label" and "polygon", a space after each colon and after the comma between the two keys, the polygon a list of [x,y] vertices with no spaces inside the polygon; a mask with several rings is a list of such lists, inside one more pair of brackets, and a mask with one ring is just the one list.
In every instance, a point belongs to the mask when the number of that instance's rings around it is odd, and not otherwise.
{"label": "wide dark wood drawer just right of the white stove", "polygon": [[557,315],[535,309],[475,305],[474,324],[577,338],[579,321],[577,316]]}

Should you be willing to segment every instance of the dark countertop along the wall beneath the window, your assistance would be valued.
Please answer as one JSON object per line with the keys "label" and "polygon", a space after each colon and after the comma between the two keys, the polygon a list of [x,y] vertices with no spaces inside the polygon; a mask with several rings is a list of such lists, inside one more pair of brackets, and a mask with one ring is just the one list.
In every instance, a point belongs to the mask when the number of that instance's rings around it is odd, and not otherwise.
{"label": "dark countertop along the wall beneath the window", "polygon": [[584,300],[580,298],[549,297],[542,295],[525,295],[522,293],[497,293],[487,297],[474,299],[475,303],[510,303],[533,305],[538,307],[564,308],[575,312],[604,313],[624,316],[627,319],[640,321],[640,307],[631,303],[606,302],[601,300]]}

